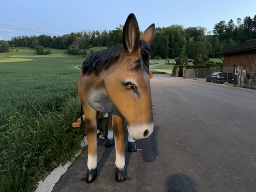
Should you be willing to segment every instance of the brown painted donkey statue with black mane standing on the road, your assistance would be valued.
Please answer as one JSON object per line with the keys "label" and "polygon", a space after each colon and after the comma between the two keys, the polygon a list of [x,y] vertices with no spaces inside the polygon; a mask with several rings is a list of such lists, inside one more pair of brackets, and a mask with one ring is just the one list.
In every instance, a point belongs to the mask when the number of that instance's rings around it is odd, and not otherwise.
{"label": "brown painted donkey statue with black mane standing on the road", "polygon": [[78,93],[87,132],[88,183],[97,176],[96,111],[112,116],[117,181],[127,179],[124,119],[132,140],[146,138],[153,132],[148,54],[154,31],[153,23],[140,37],[137,19],[130,14],[123,28],[123,44],[93,52],[81,66]]}

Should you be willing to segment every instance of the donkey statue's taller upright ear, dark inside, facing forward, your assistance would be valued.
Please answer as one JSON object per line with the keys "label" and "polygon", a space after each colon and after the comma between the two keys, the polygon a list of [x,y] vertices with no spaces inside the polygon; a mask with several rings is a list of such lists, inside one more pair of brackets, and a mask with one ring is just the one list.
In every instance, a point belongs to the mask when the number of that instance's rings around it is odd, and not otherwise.
{"label": "donkey statue's taller upright ear, dark inside, facing forward", "polygon": [[133,13],[128,15],[122,34],[124,49],[132,52],[139,48],[140,29],[137,19]]}

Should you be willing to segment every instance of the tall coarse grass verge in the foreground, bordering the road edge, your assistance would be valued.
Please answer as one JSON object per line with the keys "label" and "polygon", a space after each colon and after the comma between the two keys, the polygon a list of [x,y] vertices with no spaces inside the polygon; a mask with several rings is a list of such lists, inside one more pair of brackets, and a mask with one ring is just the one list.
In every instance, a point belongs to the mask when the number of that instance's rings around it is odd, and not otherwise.
{"label": "tall coarse grass verge in the foreground, bordering the road edge", "polygon": [[84,128],[72,128],[80,102],[70,98],[59,111],[18,113],[0,126],[0,191],[34,191],[45,172],[71,160]]}

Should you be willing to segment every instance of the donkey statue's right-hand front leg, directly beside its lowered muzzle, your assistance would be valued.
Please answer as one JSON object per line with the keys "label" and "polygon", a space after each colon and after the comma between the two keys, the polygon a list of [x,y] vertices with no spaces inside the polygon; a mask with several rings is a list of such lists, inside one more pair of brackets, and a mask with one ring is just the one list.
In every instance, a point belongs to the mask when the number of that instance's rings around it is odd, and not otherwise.
{"label": "donkey statue's right-hand front leg, directly beside its lowered muzzle", "polygon": [[124,118],[121,113],[112,116],[113,130],[116,145],[116,180],[125,181],[127,171],[125,167],[125,150],[124,150]]}

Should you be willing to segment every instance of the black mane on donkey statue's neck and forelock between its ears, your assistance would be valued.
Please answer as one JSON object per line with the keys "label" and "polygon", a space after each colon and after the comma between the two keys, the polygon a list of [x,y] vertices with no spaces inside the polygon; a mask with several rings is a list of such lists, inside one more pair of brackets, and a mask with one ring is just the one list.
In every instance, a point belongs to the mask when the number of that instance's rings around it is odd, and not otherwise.
{"label": "black mane on donkey statue's neck and forelock between its ears", "polygon": [[[139,45],[142,57],[140,62],[141,67],[142,69],[145,68],[146,72],[149,73],[149,45],[146,41],[139,41]],[[82,64],[83,73],[90,75],[94,72],[98,75],[102,68],[107,69],[113,61],[118,59],[123,51],[123,45],[114,45],[108,49],[93,52]]]}

